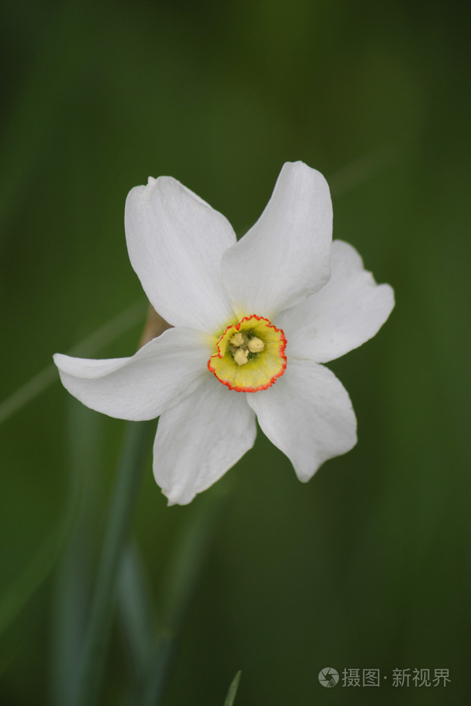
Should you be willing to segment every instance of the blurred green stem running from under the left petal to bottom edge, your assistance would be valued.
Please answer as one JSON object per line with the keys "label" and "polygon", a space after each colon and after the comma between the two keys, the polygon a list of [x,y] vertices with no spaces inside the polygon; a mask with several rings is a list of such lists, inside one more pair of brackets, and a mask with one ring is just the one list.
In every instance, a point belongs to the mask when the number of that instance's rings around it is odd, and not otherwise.
{"label": "blurred green stem running from under the left petal to bottom edge", "polygon": [[121,554],[126,546],[134,503],[148,457],[155,422],[129,422],[109,508],[102,558],[98,567],[90,625],[85,641],[76,706],[95,706],[100,695],[112,626]]}

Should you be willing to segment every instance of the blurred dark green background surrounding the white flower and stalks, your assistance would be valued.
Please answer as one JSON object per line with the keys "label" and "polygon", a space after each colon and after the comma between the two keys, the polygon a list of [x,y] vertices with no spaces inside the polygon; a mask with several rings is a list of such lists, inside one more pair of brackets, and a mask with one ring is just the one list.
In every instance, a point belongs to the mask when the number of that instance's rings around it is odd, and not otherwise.
{"label": "blurred dark green background surrounding the white flower and stalks", "polygon": [[[225,497],[222,520],[164,706],[222,706],[237,669],[236,706],[471,704],[469,7],[1,8],[0,400],[143,301],[123,214],[150,174],[177,177],[243,234],[282,163],[303,160],[330,182],[334,236],[396,292],[378,336],[330,365],[352,397],[357,447],[304,485],[259,432],[205,493]],[[144,312],[83,353],[131,354]],[[80,642],[124,431],[47,386],[49,374],[0,426],[6,706],[64,703],[52,675],[61,640],[67,654]],[[133,534],[157,607],[205,496],[167,508],[145,473]],[[103,703],[124,702],[121,642],[117,627]],[[379,690],[325,689],[326,666],[387,678]],[[396,668],[448,668],[451,683],[393,688]]]}

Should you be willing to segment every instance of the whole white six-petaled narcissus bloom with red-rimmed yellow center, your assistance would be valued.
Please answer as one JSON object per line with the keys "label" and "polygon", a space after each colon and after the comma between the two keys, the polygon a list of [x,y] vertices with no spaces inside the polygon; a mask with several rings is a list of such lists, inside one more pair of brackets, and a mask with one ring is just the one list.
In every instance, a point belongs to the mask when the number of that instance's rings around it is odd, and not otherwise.
{"label": "whole white six-petaled narcissus bloom with red-rimmed yellow center", "polygon": [[154,474],[189,503],[266,436],[309,480],[357,441],[350,398],[321,365],[376,334],[394,306],[352,246],[332,242],[323,176],[288,162],[237,242],[226,218],[170,177],[126,200],[129,258],[174,328],[130,358],[56,354],[61,381],[119,419],[160,417]]}

